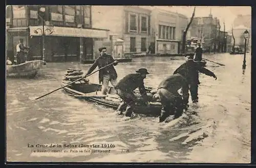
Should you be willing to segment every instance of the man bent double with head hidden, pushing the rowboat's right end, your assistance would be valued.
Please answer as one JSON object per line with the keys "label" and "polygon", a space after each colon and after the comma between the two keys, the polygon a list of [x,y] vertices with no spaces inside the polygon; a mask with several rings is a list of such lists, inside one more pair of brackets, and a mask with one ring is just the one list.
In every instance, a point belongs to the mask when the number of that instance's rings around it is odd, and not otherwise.
{"label": "man bent double with head hidden, pushing the rowboat's right end", "polygon": [[[182,95],[178,92],[181,88]],[[187,110],[188,108],[188,98],[188,83],[185,77],[175,74],[165,78],[153,95],[153,99],[159,99],[162,104],[159,123],[163,122],[169,115],[174,115],[174,119],[181,116],[183,109]]]}

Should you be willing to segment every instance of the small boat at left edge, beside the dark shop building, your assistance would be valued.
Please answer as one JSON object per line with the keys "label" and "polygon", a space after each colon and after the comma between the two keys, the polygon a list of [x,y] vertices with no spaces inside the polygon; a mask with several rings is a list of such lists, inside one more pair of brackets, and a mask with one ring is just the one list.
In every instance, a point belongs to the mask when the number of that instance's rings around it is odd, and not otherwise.
{"label": "small boat at left edge, beside the dark shop building", "polygon": [[9,78],[34,78],[44,61],[27,61],[18,65],[6,65],[6,76]]}

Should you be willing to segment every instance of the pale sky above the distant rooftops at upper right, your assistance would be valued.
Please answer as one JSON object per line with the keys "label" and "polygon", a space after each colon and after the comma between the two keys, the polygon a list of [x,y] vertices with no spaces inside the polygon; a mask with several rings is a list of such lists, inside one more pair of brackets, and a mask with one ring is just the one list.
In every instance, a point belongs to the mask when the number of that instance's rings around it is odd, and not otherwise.
{"label": "pale sky above the distant rooftops at upper right", "polygon": [[[195,6],[157,6],[157,8],[178,12],[184,14],[188,18],[191,17]],[[223,22],[225,21],[226,30],[231,30],[232,22],[237,15],[251,15],[251,7],[249,6],[196,6],[195,17],[204,17],[211,14],[212,17],[220,19],[221,30],[223,31]]]}

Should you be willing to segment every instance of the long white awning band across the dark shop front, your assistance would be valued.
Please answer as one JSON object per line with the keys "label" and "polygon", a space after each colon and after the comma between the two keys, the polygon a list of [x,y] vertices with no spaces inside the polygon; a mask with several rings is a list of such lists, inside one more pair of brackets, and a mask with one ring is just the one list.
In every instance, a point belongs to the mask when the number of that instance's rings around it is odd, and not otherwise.
{"label": "long white awning band across the dark shop front", "polygon": [[[31,36],[41,36],[42,26],[30,26]],[[53,31],[49,34],[49,31],[45,31],[46,36],[65,36],[65,37],[89,37],[89,38],[108,38],[109,30],[102,29],[78,29],[78,28],[66,28],[66,27],[50,27],[45,26],[45,30]],[[37,32],[37,33],[35,33]]]}

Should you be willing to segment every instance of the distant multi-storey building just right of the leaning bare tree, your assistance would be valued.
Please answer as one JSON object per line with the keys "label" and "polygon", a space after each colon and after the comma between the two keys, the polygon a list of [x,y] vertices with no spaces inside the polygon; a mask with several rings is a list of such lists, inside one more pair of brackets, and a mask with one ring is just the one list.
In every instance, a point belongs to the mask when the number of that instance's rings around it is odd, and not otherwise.
{"label": "distant multi-storey building just right of the leaning bare tree", "polygon": [[195,17],[191,22],[189,31],[192,37],[202,39],[202,47],[204,51],[218,51],[220,45],[220,20],[212,17]]}

